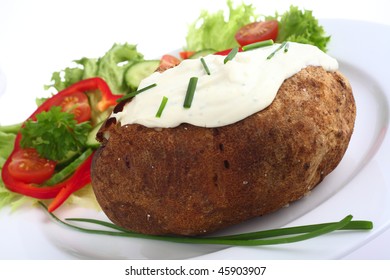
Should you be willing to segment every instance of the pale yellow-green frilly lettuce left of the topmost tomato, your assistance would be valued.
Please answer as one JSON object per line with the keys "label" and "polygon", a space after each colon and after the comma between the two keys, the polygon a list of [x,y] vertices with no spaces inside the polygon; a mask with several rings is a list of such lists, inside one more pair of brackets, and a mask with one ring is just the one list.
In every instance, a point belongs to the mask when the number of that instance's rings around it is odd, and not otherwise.
{"label": "pale yellow-green frilly lettuce left of the topmost tomato", "polygon": [[215,51],[238,46],[234,35],[240,27],[256,20],[255,8],[242,3],[236,8],[228,0],[229,16],[225,20],[223,10],[210,13],[203,10],[194,23],[188,27],[186,50],[200,51],[213,49]]}

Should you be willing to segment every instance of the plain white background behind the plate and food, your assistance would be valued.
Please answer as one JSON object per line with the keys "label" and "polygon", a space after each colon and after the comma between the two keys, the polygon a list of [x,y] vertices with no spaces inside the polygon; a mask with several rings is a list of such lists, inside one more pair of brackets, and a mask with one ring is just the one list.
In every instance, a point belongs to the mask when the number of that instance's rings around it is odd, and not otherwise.
{"label": "plain white background behind the plate and food", "polygon": [[[244,2],[253,3],[259,13],[267,15],[275,10],[283,12],[293,4],[313,10],[318,18],[390,25],[385,0]],[[23,121],[31,113],[35,97],[47,94],[42,86],[49,82],[51,73],[68,66],[73,59],[100,56],[114,42],[136,43],[146,58],[158,57],[185,45],[187,24],[196,19],[201,9],[222,7],[225,7],[224,0],[1,0],[0,71],[6,77],[6,94],[0,97],[1,124]],[[370,40],[372,35],[359,34],[359,30],[351,32],[361,35],[362,40]],[[22,92],[20,89],[26,83],[31,91]],[[346,258],[390,259],[390,250],[385,246],[389,242],[390,231],[387,231]]]}

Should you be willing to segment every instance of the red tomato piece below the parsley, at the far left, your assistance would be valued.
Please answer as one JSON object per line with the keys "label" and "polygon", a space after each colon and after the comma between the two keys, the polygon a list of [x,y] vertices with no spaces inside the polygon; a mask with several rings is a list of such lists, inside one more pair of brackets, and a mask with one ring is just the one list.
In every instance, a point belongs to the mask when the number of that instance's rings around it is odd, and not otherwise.
{"label": "red tomato piece below the parsley, at the far left", "polygon": [[35,149],[27,148],[12,155],[8,171],[16,180],[41,184],[53,175],[55,167],[55,161],[42,158]]}

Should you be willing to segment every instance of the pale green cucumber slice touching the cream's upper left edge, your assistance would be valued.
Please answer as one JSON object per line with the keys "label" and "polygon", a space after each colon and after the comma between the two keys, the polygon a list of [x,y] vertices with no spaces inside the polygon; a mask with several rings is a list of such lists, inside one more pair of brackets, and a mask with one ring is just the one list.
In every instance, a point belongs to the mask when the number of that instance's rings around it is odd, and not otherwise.
{"label": "pale green cucumber slice touching the cream's upper left edge", "polygon": [[125,73],[125,83],[130,88],[138,88],[141,80],[151,75],[158,66],[159,60],[144,60],[131,65]]}

